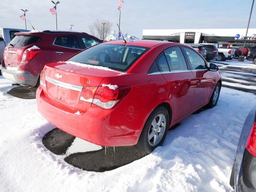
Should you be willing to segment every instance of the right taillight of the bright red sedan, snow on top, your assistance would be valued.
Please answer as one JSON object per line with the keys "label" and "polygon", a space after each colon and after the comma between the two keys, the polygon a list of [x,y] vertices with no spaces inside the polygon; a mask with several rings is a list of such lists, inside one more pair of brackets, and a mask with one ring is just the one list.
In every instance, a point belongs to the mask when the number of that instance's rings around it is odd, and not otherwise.
{"label": "right taillight of the bright red sedan, snow on top", "polygon": [[80,100],[93,103],[104,109],[111,109],[118,101],[122,100],[130,92],[131,88],[126,86],[91,86],[84,87],[80,96]]}

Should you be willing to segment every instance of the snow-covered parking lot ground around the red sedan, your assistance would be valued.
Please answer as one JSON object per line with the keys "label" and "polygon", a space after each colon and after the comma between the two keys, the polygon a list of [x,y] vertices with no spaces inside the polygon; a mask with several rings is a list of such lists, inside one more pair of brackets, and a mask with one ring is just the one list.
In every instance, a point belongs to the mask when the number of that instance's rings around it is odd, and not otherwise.
{"label": "snow-covered parking lot ground around the red sedan", "polygon": [[256,99],[256,66],[212,62],[223,78],[217,106],[182,120],[151,154],[106,172],[64,161],[101,146],[75,138],[65,154],[48,150],[42,138],[55,127],[40,116],[35,99],[7,94],[13,87],[0,76],[0,191],[233,191],[229,178],[242,125]]}

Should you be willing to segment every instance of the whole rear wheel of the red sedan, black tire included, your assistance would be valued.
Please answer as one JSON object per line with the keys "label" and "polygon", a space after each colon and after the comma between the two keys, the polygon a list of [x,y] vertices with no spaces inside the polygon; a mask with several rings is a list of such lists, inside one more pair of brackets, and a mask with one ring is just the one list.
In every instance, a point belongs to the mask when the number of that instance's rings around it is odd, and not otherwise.
{"label": "whole rear wheel of the red sedan, black tire included", "polygon": [[[161,124],[160,117],[162,117]],[[158,130],[156,131],[154,130],[153,127],[154,120],[155,124],[157,124],[156,128],[158,128]],[[137,148],[139,148],[142,152],[149,154],[155,148],[162,145],[168,132],[169,122],[169,113],[167,109],[164,106],[158,106],[157,108],[155,108],[144,125],[144,128],[140,134],[140,138],[136,145]],[[160,129],[162,130],[162,132],[160,132]],[[155,135],[158,135],[158,137],[156,137]],[[149,136],[152,136],[152,138],[149,139]],[[154,141],[157,143],[154,144]]]}

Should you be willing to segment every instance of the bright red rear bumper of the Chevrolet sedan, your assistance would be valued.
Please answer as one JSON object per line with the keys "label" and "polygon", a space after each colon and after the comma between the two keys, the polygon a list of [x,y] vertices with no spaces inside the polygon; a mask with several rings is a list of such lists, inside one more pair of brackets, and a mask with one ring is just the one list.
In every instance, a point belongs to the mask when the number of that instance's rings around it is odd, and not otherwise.
{"label": "bright red rear bumper of the Chevrolet sedan", "polygon": [[[130,146],[138,142],[146,112],[119,112],[92,105],[87,112],[75,114],[44,95],[42,87],[36,91],[38,111],[54,126],[100,146]],[[134,114],[132,114],[134,113]],[[130,115],[135,116],[133,120]],[[136,125],[136,126],[135,126]]]}

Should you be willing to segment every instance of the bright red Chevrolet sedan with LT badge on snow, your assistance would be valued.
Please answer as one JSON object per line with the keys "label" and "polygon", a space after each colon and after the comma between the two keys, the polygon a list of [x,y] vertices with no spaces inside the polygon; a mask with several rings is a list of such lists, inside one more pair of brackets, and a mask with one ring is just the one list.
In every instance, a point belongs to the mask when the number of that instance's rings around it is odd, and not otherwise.
{"label": "bright red Chevrolet sedan with LT badge on snow", "polygon": [[202,106],[216,106],[217,70],[184,44],[105,42],[44,67],[38,110],[58,128],[94,144],[137,144],[152,152],[171,126]]}

